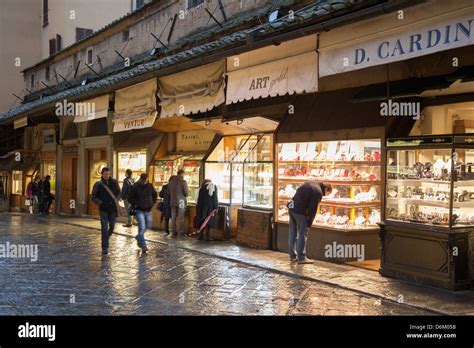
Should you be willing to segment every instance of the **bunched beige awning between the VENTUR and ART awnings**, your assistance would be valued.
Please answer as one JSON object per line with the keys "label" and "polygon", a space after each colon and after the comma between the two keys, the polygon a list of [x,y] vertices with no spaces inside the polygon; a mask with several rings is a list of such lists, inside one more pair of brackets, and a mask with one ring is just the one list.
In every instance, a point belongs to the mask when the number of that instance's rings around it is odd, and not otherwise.
{"label": "bunched beige awning between the VENTUR and ART awnings", "polygon": [[225,61],[158,79],[160,118],[205,112],[225,100]]}

